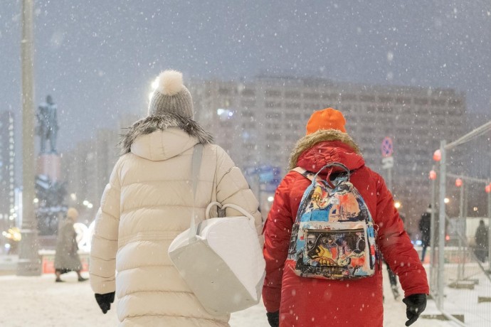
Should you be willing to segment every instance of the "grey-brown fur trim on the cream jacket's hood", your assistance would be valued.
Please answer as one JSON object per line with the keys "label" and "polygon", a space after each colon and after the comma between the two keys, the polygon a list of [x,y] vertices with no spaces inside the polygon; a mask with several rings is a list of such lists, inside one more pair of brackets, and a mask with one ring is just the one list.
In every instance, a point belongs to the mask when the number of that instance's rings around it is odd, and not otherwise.
{"label": "grey-brown fur trim on the cream jacket's hood", "polygon": [[134,122],[129,131],[122,136],[120,143],[120,153],[127,154],[130,152],[131,145],[138,136],[151,134],[157,130],[164,131],[169,127],[177,127],[186,132],[189,136],[194,137],[201,144],[213,142],[213,136],[206,132],[196,121],[191,118],[181,117],[179,114],[166,112],[158,116],[148,116]]}

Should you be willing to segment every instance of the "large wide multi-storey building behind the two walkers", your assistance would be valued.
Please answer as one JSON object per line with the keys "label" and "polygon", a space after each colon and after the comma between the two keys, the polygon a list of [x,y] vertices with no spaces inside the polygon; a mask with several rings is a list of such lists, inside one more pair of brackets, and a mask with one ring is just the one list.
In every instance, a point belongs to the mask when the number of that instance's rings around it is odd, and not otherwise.
{"label": "large wide multi-storey building behind the two walkers", "polygon": [[[194,81],[196,119],[241,168],[279,166],[305,135],[312,112],[343,112],[347,132],[366,164],[388,177],[381,142],[394,144],[392,191],[401,212],[416,220],[428,205],[428,172],[440,139],[464,134],[465,95],[450,89],[357,85],[319,79],[258,77],[246,82]],[[252,187],[252,186],[251,186]]]}

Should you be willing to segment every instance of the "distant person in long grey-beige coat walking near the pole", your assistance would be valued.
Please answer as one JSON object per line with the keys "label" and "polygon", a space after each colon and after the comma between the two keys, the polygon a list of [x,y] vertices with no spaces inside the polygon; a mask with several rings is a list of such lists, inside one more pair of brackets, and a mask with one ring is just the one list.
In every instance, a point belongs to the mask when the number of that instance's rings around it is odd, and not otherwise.
{"label": "distant person in long grey-beige coat walking near the pole", "polygon": [[75,208],[68,208],[66,218],[60,224],[58,229],[58,237],[56,240],[55,253],[55,274],[56,282],[64,282],[60,275],[67,272],[76,272],[78,282],[84,282],[87,279],[82,277],[82,263],[78,256],[77,233],[73,224],[77,222],[78,211]]}

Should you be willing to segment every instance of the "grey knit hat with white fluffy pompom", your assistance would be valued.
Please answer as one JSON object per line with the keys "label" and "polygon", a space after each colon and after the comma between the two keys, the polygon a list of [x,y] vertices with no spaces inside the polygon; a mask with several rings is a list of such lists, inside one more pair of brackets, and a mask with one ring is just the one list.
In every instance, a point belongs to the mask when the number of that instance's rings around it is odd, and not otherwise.
{"label": "grey knit hat with white fluffy pompom", "polygon": [[164,70],[159,75],[159,86],[154,91],[148,107],[149,116],[158,116],[166,112],[193,118],[193,99],[191,93],[182,84],[182,73],[176,70]]}

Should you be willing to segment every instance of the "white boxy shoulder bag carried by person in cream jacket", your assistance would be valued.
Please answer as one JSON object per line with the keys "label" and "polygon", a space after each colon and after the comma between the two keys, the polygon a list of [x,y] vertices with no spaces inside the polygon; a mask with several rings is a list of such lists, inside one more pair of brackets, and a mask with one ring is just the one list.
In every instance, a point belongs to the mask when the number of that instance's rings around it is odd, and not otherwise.
{"label": "white boxy shoulder bag carried by person in cream jacket", "polygon": [[[201,148],[202,151],[202,148]],[[193,154],[193,191],[199,149]],[[196,159],[198,158],[198,159]],[[196,164],[197,163],[197,164]],[[243,216],[209,218],[213,205],[233,208]],[[169,257],[208,313],[223,315],[247,309],[260,301],[265,261],[254,218],[238,205],[213,202],[206,219],[179,234],[169,246]]]}

